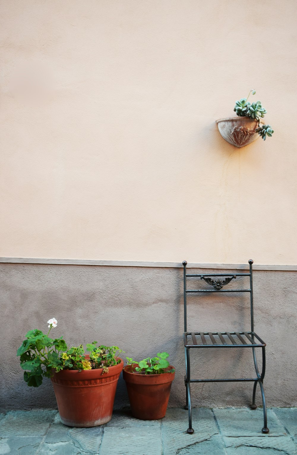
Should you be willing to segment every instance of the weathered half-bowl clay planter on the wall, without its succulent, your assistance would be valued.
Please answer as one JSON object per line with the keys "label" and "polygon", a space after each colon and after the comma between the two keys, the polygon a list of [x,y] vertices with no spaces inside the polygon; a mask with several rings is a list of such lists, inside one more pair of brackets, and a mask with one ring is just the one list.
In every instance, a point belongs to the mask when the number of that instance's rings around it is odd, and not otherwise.
{"label": "weathered half-bowl clay planter on the wall, without its succulent", "polygon": [[[264,125],[264,122],[261,121]],[[258,133],[255,133],[259,122],[250,117],[228,117],[217,120],[218,131],[229,144],[235,147],[244,147],[255,141]]]}

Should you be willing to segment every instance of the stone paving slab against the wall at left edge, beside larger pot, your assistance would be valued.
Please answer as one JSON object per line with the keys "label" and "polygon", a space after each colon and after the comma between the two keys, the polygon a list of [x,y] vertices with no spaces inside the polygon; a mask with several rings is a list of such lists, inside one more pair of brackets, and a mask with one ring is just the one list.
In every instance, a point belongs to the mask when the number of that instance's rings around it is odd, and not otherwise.
{"label": "stone paving slab against the wall at left edge, beside larger pot", "polygon": [[44,436],[57,411],[9,411],[0,420],[0,436]]}

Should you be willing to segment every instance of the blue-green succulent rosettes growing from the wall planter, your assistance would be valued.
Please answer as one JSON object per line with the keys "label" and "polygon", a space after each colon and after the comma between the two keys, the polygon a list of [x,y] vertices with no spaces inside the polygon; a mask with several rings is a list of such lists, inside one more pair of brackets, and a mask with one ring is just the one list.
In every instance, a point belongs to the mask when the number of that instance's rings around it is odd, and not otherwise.
{"label": "blue-green succulent rosettes growing from the wall planter", "polygon": [[241,98],[240,101],[236,101],[234,111],[236,112],[236,115],[238,115],[239,117],[250,117],[252,119],[258,120],[259,126],[255,132],[257,132],[265,141],[266,136],[269,137],[272,136],[273,130],[270,125],[260,126],[260,120],[262,117],[264,117],[267,111],[266,109],[264,109],[264,107],[262,107],[261,101],[257,101],[254,103],[250,103],[249,101],[247,101],[251,93],[252,95],[255,95],[256,91],[250,90],[247,98]]}

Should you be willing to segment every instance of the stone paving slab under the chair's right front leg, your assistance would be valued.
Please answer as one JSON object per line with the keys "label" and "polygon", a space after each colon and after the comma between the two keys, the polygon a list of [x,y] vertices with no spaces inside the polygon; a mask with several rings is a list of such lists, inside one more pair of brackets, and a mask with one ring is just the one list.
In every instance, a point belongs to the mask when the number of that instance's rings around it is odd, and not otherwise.
{"label": "stone paving slab under the chair's right front leg", "polygon": [[224,408],[213,409],[219,429],[223,436],[286,436],[287,432],[279,423],[272,410],[267,410],[269,433],[263,435],[263,410],[257,408]]}

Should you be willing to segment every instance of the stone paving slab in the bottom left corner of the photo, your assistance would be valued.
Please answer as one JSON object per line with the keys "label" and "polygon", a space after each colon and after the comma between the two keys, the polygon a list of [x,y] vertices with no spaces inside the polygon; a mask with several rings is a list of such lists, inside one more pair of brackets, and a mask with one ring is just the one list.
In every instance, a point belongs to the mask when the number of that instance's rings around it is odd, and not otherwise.
{"label": "stone paving slab in the bottom left corner of the photo", "polygon": [[0,439],[0,455],[35,455],[42,436],[11,436]]}

